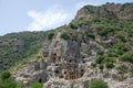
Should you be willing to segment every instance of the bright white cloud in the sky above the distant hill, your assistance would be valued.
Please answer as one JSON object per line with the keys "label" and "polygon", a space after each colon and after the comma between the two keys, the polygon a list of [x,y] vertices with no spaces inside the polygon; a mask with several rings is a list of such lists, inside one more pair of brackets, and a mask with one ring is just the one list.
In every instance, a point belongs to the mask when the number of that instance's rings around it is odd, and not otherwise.
{"label": "bright white cloud in the sky above the distant hill", "polygon": [[53,7],[47,11],[37,12],[29,11],[28,15],[32,18],[32,22],[28,25],[28,31],[44,31],[55,29],[70,22],[70,14],[61,9],[61,7]]}

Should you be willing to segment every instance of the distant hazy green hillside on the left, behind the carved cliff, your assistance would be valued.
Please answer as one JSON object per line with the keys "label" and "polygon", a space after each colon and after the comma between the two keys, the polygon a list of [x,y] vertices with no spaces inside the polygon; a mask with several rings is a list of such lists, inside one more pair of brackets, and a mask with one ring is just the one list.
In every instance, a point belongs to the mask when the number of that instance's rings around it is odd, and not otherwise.
{"label": "distant hazy green hillside on the left, behind the carved cliff", "polygon": [[37,54],[51,32],[20,32],[0,36],[0,72]]}

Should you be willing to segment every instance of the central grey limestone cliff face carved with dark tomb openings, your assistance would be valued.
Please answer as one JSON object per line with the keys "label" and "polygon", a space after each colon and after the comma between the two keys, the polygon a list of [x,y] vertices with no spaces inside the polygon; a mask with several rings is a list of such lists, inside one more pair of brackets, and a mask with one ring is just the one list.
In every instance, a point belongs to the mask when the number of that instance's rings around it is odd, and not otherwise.
{"label": "central grey limestone cliff face carved with dark tomb openings", "polygon": [[78,41],[64,41],[59,37],[52,40],[49,46],[48,66],[51,78],[76,79],[83,76],[84,66],[80,54],[80,44]]}

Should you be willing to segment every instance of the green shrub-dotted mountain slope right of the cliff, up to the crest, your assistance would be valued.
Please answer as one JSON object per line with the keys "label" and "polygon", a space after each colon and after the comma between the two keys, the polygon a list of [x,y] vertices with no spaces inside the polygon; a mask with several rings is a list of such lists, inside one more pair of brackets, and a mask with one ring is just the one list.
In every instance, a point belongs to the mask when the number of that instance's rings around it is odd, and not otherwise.
{"label": "green shrub-dotted mountain slope right of the cliff, up to the crest", "polygon": [[[114,3],[106,3],[101,7],[83,7],[82,10],[84,11],[85,15],[80,14],[80,18],[76,16],[76,19],[70,23],[70,28],[74,31],[75,26],[81,29],[89,26],[89,29],[82,29],[84,30],[82,35],[94,40],[104,48],[109,50],[106,53],[103,53],[101,48],[96,50],[98,56],[95,62],[92,63],[92,67],[99,67],[100,69],[104,69],[104,67],[115,68],[123,73],[133,74],[133,68],[123,66],[124,63],[133,63],[133,18],[121,18],[121,14],[111,9],[112,6],[115,7]],[[127,15],[126,10],[129,10],[130,14],[133,16],[133,9],[131,9],[133,3],[116,6],[120,7],[119,12],[123,12],[123,16]],[[96,29],[98,34],[92,31],[93,29]],[[115,40],[117,40],[117,42],[104,44],[96,41],[95,36],[103,38],[113,36]],[[119,65],[119,67],[115,65],[117,61],[122,63]],[[121,69],[122,67],[124,67],[124,70]]]}

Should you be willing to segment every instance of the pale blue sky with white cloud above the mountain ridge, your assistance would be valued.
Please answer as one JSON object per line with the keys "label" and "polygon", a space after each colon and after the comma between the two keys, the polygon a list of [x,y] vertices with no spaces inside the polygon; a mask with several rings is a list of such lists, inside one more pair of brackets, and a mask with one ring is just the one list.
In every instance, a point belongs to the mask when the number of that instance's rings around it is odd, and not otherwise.
{"label": "pale blue sky with white cloud above the mountain ridge", "polygon": [[0,35],[55,29],[69,23],[84,4],[105,2],[133,0],[0,0]]}

